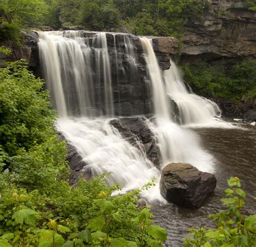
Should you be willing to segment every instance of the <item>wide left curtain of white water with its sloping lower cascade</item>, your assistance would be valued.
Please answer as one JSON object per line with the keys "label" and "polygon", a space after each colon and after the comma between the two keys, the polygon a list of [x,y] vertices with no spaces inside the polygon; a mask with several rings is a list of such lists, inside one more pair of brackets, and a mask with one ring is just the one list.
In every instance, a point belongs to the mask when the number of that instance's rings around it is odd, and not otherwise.
{"label": "wide left curtain of white water with its sloping lower cascade", "polygon": [[[91,46],[78,32],[64,36],[62,32],[39,33],[39,52],[51,99],[59,115],[57,129],[76,147],[87,164],[84,170],[92,175],[111,172],[110,183],[119,181],[124,190],[141,187],[152,177],[159,177],[159,171],[147,160],[145,152],[123,139],[118,130],[108,124],[109,119],[95,118],[98,113],[92,111],[96,107],[97,87],[102,83],[104,115],[113,112],[105,33],[97,33]],[[90,67],[92,64],[96,67],[95,74]]]}

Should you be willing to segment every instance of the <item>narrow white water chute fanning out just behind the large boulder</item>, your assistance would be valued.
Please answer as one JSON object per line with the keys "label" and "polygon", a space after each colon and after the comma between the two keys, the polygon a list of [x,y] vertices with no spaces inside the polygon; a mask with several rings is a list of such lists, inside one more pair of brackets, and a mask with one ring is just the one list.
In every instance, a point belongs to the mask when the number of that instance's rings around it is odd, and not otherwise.
{"label": "narrow white water chute fanning out just behind the large boulder", "polygon": [[169,86],[163,81],[151,41],[145,37],[140,40],[150,75],[156,113],[156,127],[152,126],[152,129],[158,138],[162,167],[172,162],[184,162],[197,166],[201,171],[213,172],[211,156],[201,149],[197,136],[191,130],[173,123],[166,94],[166,88]]}

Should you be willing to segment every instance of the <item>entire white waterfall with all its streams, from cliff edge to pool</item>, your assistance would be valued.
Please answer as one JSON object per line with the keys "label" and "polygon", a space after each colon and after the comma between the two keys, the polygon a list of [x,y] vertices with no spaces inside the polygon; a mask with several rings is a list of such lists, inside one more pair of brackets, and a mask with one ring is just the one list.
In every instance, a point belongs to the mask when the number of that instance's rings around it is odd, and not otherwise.
{"label": "entire white waterfall with all its streams, from cliff edge to pool", "polygon": [[[109,124],[114,115],[124,112],[123,87],[127,82],[130,87],[142,83],[142,73],[143,83],[137,85],[142,90],[136,93],[138,97],[144,97],[145,91],[148,95],[149,112],[154,116],[151,122],[144,122],[160,147],[160,167],[176,161],[203,171],[214,170],[212,157],[201,149],[197,136],[177,123],[212,121],[219,114],[218,106],[189,93],[172,61],[163,72],[152,40],[122,33],[42,32],[38,45],[44,77],[59,115],[57,129],[76,148],[83,172],[111,172],[110,183],[119,181],[124,190],[142,186],[152,177],[159,180],[159,170],[147,159],[139,139],[131,145]],[[158,194],[155,188],[147,197],[153,199]]]}

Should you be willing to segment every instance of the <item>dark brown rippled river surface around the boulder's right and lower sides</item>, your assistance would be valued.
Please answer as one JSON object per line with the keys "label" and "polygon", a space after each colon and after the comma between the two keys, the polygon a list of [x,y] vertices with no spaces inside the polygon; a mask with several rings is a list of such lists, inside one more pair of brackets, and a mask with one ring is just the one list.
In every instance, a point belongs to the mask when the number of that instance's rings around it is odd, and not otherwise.
{"label": "dark brown rippled river surface around the boulder's right and lower sides", "polygon": [[231,176],[241,180],[246,192],[245,214],[256,214],[256,131],[252,125],[243,129],[200,128],[194,129],[204,149],[214,156],[214,174],[217,187],[200,209],[185,209],[173,204],[152,204],[155,221],[168,232],[165,246],[182,246],[187,229],[210,225],[208,214],[225,209],[220,199],[225,196],[227,179]]}

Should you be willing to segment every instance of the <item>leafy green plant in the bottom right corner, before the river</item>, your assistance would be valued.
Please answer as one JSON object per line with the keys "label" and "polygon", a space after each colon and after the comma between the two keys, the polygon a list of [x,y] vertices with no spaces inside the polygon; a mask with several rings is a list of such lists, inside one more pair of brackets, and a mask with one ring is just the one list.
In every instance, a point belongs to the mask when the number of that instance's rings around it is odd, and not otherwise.
{"label": "leafy green plant in the bottom right corner, before the river", "polygon": [[191,228],[190,238],[185,238],[183,246],[255,246],[256,245],[256,215],[244,216],[241,208],[246,197],[240,180],[231,177],[227,181],[226,198],[221,199],[226,210],[211,215],[216,224],[215,229]]}

